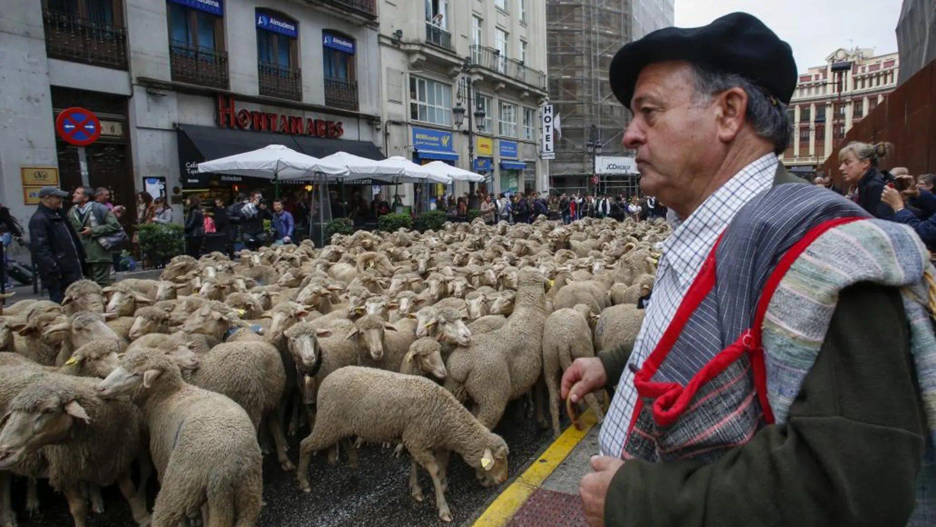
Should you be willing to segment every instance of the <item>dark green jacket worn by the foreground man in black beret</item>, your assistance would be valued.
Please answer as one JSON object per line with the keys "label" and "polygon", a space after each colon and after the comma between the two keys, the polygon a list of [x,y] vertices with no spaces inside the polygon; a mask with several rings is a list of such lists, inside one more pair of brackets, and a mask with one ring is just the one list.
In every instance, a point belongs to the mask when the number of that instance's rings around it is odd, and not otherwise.
{"label": "dark green jacket worn by the foreground man in black beret", "polygon": [[[709,464],[626,461],[606,527],[904,527],[926,432],[908,331],[896,288],[843,289],[787,421]],[[607,386],[630,353],[599,354]]]}

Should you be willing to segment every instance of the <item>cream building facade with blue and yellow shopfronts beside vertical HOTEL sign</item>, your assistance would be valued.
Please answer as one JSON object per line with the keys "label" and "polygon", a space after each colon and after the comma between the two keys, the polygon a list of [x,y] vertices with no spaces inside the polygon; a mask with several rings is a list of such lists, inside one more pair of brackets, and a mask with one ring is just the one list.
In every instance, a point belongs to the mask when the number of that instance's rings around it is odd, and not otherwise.
{"label": "cream building facade with blue and yellow shopfronts beside vertical HOTEL sign", "polygon": [[[537,149],[539,108],[547,95],[542,2],[389,6],[382,5],[379,37],[388,156],[473,169],[488,177],[479,184],[492,193],[544,190],[546,165]],[[471,186],[416,185],[415,196],[403,202],[421,210],[430,198],[461,195]]]}

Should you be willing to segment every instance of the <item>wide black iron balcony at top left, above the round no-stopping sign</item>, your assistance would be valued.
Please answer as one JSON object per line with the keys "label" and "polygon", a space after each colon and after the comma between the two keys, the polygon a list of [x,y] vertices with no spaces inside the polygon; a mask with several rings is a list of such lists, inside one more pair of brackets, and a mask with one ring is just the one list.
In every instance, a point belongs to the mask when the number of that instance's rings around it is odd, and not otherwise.
{"label": "wide black iron balcony at top left, above the round no-stopping sign", "polygon": [[46,9],[46,54],[52,59],[126,69],[126,29]]}

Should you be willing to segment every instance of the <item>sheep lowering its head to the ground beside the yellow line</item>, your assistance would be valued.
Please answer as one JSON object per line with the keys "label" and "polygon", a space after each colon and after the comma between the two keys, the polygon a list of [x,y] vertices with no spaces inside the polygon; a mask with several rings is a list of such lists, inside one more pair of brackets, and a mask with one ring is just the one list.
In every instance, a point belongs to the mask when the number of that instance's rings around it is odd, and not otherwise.
{"label": "sheep lowering its head to the ground beside the yellow line", "polygon": [[357,461],[357,453],[349,447],[351,435],[371,443],[402,441],[412,457],[413,499],[423,500],[418,464],[432,478],[443,521],[452,520],[445,497],[449,452],[461,455],[497,484],[507,479],[509,449],[504,439],[429,379],[348,366],[322,382],[317,405],[314,429],[300,445],[297,479],[303,492],[311,491],[308,471],[315,451],[342,442],[352,452],[352,462]]}

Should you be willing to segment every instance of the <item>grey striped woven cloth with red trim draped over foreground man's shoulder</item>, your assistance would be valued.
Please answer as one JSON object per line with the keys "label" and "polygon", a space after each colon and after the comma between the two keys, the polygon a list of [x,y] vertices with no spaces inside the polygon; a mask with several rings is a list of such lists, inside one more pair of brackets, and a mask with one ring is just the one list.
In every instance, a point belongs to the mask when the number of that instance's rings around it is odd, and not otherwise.
{"label": "grey striped woven cloth with red trim draped over foreground man's shoulder", "polygon": [[825,189],[781,184],[754,198],[725,229],[673,326],[636,373],[638,403],[624,417],[631,430],[617,443],[622,458],[715,461],[763,426],[784,423],[840,291],[893,286],[902,294],[929,425],[909,525],[926,524],[936,514],[936,338],[926,283],[934,276],[912,229],[869,219]]}

